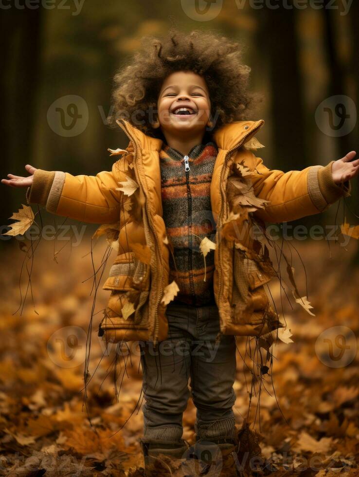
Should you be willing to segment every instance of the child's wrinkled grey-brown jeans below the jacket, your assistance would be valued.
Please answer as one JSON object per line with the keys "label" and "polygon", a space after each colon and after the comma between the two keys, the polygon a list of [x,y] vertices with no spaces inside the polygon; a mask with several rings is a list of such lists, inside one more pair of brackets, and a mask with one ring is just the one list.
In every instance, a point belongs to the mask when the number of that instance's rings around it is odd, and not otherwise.
{"label": "child's wrinkled grey-brown jeans below the jacket", "polygon": [[182,414],[191,394],[197,408],[197,439],[232,438],[235,337],[219,333],[218,309],[170,303],[168,338],[141,341],[144,439],[177,441],[183,433]]}

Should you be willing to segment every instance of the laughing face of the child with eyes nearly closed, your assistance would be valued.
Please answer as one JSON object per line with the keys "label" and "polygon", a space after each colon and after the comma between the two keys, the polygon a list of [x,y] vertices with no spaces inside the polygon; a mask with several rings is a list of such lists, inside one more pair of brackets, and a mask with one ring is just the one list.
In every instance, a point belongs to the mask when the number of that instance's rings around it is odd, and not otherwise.
{"label": "laughing face of the child with eyes nearly closed", "polygon": [[[190,108],[190,114],[179,108]],[[163,81],[157,101],[158,120],[163,132],[203,132],[210,119],[211,101],[202,76],[191,71],[171,73]]]}

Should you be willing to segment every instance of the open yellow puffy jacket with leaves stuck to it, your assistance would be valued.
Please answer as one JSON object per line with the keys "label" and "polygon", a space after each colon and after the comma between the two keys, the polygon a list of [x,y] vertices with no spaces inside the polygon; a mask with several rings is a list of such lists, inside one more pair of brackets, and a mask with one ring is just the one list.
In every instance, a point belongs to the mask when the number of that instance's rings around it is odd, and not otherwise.
{"label": "open yellow puffy jacket with leaves stuck to it", "polygon": [[[59,216],[114,232],[118,255],[103,289],[111,294],[99,335],[111,342],[166,339],[166,305],[171,244],[162,218],[159,151],[162,140],[117,121],[129,144],[119,149],[111,171],[96,176],[37,169],[27,203]],[[215,300],[222,334],[260,336],[283,326],[269,304],[264,285],[275,275],[268,249],[253,236],[254,225],[284,222],[326,210],[349,196],[350,182],[335,184],[331,167],[270,170],[252,150],[264,121],[238,121],[218,128],[218,155],[211,182],[216,221]],[[212,253],[212,252],[211,252]]]}

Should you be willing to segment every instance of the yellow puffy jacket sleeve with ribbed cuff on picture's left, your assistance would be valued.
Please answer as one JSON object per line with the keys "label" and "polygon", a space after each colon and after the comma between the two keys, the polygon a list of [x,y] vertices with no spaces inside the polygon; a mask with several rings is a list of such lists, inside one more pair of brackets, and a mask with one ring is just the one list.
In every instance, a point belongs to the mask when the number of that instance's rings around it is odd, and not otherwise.
{"label": "yellow puffy jacket sleeve with ribbed cuff on picture's left", "polygon": [[115,164],[112,171],[102,171],[96,176],[36,169],[33,184],[26,192],[27,203],[87,223],[118,221],[122,193],[115,190],[119,187]]}

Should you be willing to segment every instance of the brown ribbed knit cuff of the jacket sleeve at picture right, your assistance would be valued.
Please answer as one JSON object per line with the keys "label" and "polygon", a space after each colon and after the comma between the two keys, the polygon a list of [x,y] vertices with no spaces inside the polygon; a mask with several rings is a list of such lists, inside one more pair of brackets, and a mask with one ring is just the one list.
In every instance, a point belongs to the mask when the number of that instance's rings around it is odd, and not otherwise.
{"label": "brown ribbed knit cuff of the jacket sleeve at picture right", "polygon": [[345,181],[341,184],[336,184],[333,181],[332,165],[334,162],[331,161],[325,166],[313,165],[309,167],[307,177],[308,193],[314,205],[321,212],[325,211],[342,196],[350,196],[350,181]]}

